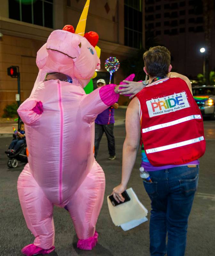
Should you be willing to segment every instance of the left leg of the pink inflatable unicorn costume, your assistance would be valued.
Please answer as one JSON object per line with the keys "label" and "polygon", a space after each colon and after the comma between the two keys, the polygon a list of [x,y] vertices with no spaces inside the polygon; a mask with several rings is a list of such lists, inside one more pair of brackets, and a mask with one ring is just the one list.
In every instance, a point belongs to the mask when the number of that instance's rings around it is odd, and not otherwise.
{"label": "left leg of the pink inflatable unicorn costume", "polygon": [[36,247],[45,250],[52,249],[54,246],[53,204],[47,199],[32,176],[29,164],[26,164],[20,173],[17,189],[26,224],[35,236],[35,247],[29,245],[29,248],[24,247],[23,250],[32,249],[34,251],[38,249]]}

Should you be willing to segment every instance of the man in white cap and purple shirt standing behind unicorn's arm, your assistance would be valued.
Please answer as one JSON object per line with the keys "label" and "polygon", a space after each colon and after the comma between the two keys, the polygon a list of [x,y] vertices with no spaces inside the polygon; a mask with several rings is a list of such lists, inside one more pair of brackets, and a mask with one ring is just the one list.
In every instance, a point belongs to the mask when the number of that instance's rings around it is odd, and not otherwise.
{"label": "man in white cap and purple shirt standing behind unicorn's arm", "polygon": [[[99,79],[97,87],[105,86],[105,80]],[[103,133],[105,133],[108,140],[109,160],[114,160],[115,156],[115,138],[114,138],[114,109],[118,108],[119,104],[116,102],[111,107],[100,113],[95,120],[95,158],[97,157],[99,144]]]}

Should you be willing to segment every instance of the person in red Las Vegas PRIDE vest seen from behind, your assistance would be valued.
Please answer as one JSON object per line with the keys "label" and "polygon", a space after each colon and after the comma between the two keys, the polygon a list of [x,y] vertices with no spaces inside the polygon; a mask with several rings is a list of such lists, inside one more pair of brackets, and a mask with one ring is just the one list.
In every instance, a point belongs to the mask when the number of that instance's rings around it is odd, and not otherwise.
{"label": "person in red Las Vegas PRIDE vest seen from behind", "polygon": [[150,255],[184,256],[188,217],[198,185],[198,158],[205,152],[203,119],[189,79],[170,72],[167,48],[152,47],[143,60],[149,76],[145,88],[141,83],[125,81],[129,89],[118,91],[126,94],[133,87],[140,92],[126,111],[122,180],[112,194],[118,203],[124,201],[122,192],[141,144],[141,177],[150,175],[150,179],[143,179],[152,207]]}

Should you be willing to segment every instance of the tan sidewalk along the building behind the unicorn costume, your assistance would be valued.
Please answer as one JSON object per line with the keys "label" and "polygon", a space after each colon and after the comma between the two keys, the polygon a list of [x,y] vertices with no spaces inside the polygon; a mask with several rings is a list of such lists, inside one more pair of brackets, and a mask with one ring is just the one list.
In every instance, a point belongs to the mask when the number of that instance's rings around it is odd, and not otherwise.
{"label": "tan sidewalk along the building behind the unicorn costume", "polygon": [[[115,126],[125,123],[125,112],[127,107],[120,106],[115,109]],[[10,137],[13,133],[12,127],[17,128],[18,122],[15,118],[0,118],[0,137]]]}

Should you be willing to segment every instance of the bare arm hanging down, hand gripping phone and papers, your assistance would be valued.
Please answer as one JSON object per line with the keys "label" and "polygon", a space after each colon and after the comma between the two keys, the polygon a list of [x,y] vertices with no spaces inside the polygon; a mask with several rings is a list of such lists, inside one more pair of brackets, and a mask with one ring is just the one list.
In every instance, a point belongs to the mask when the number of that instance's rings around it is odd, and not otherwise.
{"label": "bare arm hanging down, hand gripping phone and papers", "polygon": [[135,164],[137,151],[139,148],[140,139],[140,124],[139,124],[139,102],[137,98],[131,100],[125,119],[126,137],[123,144],[123,165],[122,165],[122,181],[113,189],[115,200],[123,202],[124,198],[121,195],[127,188],[128,181],[131,176],[131,171]]}

